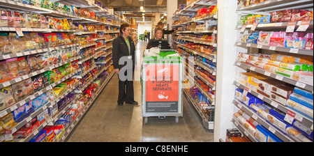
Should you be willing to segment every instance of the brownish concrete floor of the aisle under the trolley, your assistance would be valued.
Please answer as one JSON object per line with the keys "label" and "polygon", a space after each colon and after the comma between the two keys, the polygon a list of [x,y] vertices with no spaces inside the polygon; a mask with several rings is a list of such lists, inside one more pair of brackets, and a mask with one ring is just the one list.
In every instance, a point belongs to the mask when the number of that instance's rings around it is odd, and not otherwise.
{"label": "brownish concrete floor of the aisle under the trolley", "polygon": [[[137,58],[147,42],[137,44]],[[118,106],[118,77],[114,75],[87,114],[68,138],[68,142],[212,142],[214,134],[205,129],[197,112],[184,98],[183,114],[179,123],[174,117],[160,120],[150,117],[144,124],[141,117],[141,85],[136,81],[140,69],[135,72],[135,101],[138,106],[124,104]]]}

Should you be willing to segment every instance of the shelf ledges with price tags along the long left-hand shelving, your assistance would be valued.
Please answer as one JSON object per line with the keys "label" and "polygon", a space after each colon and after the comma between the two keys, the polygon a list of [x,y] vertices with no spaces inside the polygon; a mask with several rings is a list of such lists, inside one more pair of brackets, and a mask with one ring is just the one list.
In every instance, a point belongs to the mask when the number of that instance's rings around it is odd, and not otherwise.
{"label": "shelf ledges with price tags along the long left-hand shelving", "polygon": [[[96,6],[94,3],[90,3],[87,0],[74,0],[74,1],[58,1],[58,3],[63,3],[64,4],[70,4],[73,6],[80,6],[84,9],[87,9],[89,11],[94,11],[96,15],[100,17],[106,17],[108,19],[115,20],[115,22],[104,22],[100,20],[92,20],[89,18],[84,18],[84,17],[79,17],[78,15],[70,15],[66,13],[60,13],[57,10],[50,10],[47,8],[40,8],[38,6],[31,6],[29,4],[24,4],[24,3],[19,3],[15,1],[10,1],[10,0],[1,0],[0,1],[0,8],[10,8],[12,10],[17,10],[20,12],[24,11],[29,11],[31,13],[38,13],[40,15],[46,15],[50,17],[59,17],[61,19],[66,18],[66,19],[72,19],[73,22],[80,22],[80,23],[88,23],[88,24],[97,24],[97,25],[105,25],[107,26],[107,30],[95,30],[95,31],[82,31],[82,30],[76,30],[76,29],[41,29],[41,28],[21,28],[22,32],[38,32],[38,33],[74,33],[76,36],[84,36],[84,35],[93,35],[97,33],[104,33],[107,34],[108,36],[118,36],[119,35],[119,25],[120,22],[126,22],[126,20],[123,20],[122,18],[117,15],[111,15],[107,10],[100,8],[99,6]],[[134,27],[134,26],[133,26]],[[111,28],[111,29],[110,29]],[[118,29],[118,31],[117,31]],[[133,28],[135,29],[135,27]],[[136,29],[134,30],[136,31]],[[0,32],[3,33],[17,33],[17,29],[14,27],[0,27]],[[117,33],[117,35],[114,35]],[[134,38],[136,41],[136,38]],[[97,46],[96,41],[97,40],[104,40],[105,43],[108,43],[109,46],[103,45],[103,46]],[[112,59],[112,51],[110,46],[110,42],[112,42],[114,38],[107,38],[107,37],[98,37],[98,38],[93,38],[94,42],[89,42],[87,44],[80,44],[79,43],[74,43],[70,45],[60,45],[57,47],[47,47],[44,49],[34,49],[31,51],[24,51],[24,52],[17,52],[15,54],[4,54],[0,55],[0,61],[6,61],[7,59],[14,59],[14,58],[20,58],[22,56],[29,56],[29,55],[36,55],[36,54],[45,54],[47,52],[53,52],[53,51],[58,51],[58,50],[63,50],[63,49],[68,49],[68,48],[73,48],[77,47],[78,50],[95,50],[94,54],[85,57],[80,56],[80,52],[77,53],[77,55],[73,55],[66,61],[61,61],[61,63],[56,63],[56,64],[51,64],[48,65],[47,67],[44,67],[40,70],[29,72],[27,75],[23,75],[20,77],[17,77],[15,79],[10,79],[9,81],[5,81],[0,84],[0,89],[6,88],[6,87],[11,87],[14,84],[19,83],[20,81],[24,81],[26,79],[30,79],[32,77],[36,77],[37,75],[43,75],[46,72],[50,72],[56,68],[61,68],[64,65],[67,65],[68,63],[77,63],[77,65],[82,65],[83,63],[90,61],[92,64],[90,64],[88,70],[82,71],[80,66],[77,68],[74,68],[73,72],[68,73],[68,75],[64,76],[63,78],[59,79],[59,81],[55,81],[54,83],[46,86],[45,88],[41,89],[40,91],[36,91],[35,93],[29,95],[28,97],[24,98],[23,100],[17,101],[15,104],[13,104],[10,107],[6,107],[5,109],[0,110],[0,118],[4,118],[10,114],[13,113],[13,111],[17,109],[21,109],[22,107],[25,107],[28,102],[32,102],[32,100],[35,100],[38,98],[40,95],[47,94],[48,92],[52,91],[52,89],[65,82],[68,81],[68,79],[77,79],[77,83],[72,84],[71,87],[68,88],[68,91],[65,91],[62,95],[59,95],[59,97],[55,98],[54,100],[48,100],[47,103],[43,104],[43,106],[39,107],[36,111],[33,111],[31,114],[26,114],[22,120],[19,122],[16,122],[17,124],[13,127],[10,128],[10,134],[11,136],[14,136],[15,132],[19,131],[21,127],[24,127],[25,124],[33,122],[34,118],[38,118],[38,116],[43,116],[43,114],[46,114],[48,109],[52,109],[54,107],[59,107],[59,102],[61,102],[68,94],[75,94],[75,97],[72,99],[71,102],[68,102],[66,105],[62,106],[61,110],[57,110],[57,115],[52,117],[52,115],[45,115],[45,118],[43,120],[38,120],[38,123],[36,125],[32,125],[31,129],[28,131],[27,137],[24,137],[22,139],[17,139],[13,137],[14,141],[19,141],[19,142],[26,142],[26,141],[31,141],[31,139],[37,137],[40,132],[45,129],[47,126],[52,126],[55,123],[57,123],[59,120],[63,120],[62,116],[65,116],[67,112],[73,107],[73,105],[77,104],[77,102],[80,102],[80,98],[82,96],[82,91],[84,91],[87,87],[89,87],[90,84],[93,83],[95,79],[97,79],[100,75],[103,74],[103,72],[107,71],[108,75],[105,78],[105,80],[101,83],[100,86],[98,86],[97,90],[93,95],[91,96],[91,99],[89,99],[85,104],[84,108],[80,110],[80,114],[76,116],[76,118],[73,119],[73,122],[70,123],[70,126],[64,130],[64,132],[61,132],[61,135],[59,135],[58,139],[55,141],[64,141],[66,137],[68,137],[68,134],[73,130],[75,125],[79,120],[82,119],[82,116],[87,112],[87,110],[91,107],[93,102],[97,99],[98,95],[100,95],[101,91],[103,91],[103,88],[107,85],[107,83],[110,81],[110,79],[113,77],[114,72],[110,72],[112,70],[112,63],[107,63],[104,65],[96,65],[95,60],[98,59],[100,56],[105,56],[107,57],[107,61],[109,62]],[[95,59],[95,60],[94,60]],[[94,75],[92,79],[87,81],[86,83],[82,84],[82,81],[80,79],[83,79],[86,75],[88,75],[91,71],[94,69],[97,69],[97,73]],[[4,134],[0,134],[0,141],[5,141],[6,137]],[[10,138],[10,137],[9,137]],[[56,137],[57,138],[57,137]],[[10,141],[10,140],[7,140]]]}

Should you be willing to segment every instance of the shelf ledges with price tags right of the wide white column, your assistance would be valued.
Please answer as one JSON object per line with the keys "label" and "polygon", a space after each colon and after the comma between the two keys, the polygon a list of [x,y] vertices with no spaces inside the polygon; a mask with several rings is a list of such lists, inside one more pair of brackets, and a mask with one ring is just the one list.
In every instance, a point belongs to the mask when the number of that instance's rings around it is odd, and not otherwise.
{"label": "shelf ledges with price tags right of the wide white column", "polygon": [[[313,1],[278,1],[278,0],[269,0],[264,1],[262,3],[255,3],[251,6],[245,6],[237,8],[236,13],[239,15],[270,15],[269,12],[271,11],[278,11],[278,10],[285,10],[285,9],[310,9],[313,10]],[[275,22],[275,23],[267,23],[267,24],[248,24],[248,25],[237,25],[235,27],[235,31],[237,31],[238,34],[247,32],[250,33],[251,31],[286,31],[288,27],[289,22]],[[295,24],[293,32],[298,32],[298,28],[301,24],[301,21],[297,21]],[[313,33],[313,20],[311,20],[306,32]],[[237,53],[247,53],[251,52],[253,54],[283,54],[287,56],[311,56],[313,59],[313,49],[297,49],[297,48],[288,48],[288,47],[273,47],[269,45],[259,45],[253,43],[244,43],[244,42],[235,42],[234,47],[237,47]],[[239,77],[239,72],[253,72],[258,73],[260,75],[264,75],[264,77],[276,79],[278,81],[283,82],[284,84],[290,85],[291,87],[299,87],[303,88],[305,91],[309,91],[313,95],[313,82],[305,82],[301,80],[292,79],[292,77],[285,77],[283,75],[277,74],[275,72],[271,72],[269,70],[265,70],[264,68],[259,68],[254,65],[249,65],[244,62],[235,61],[234,67],[237,70],[235,80],[233,82],[233,85],[237,88],[244,89],[244,92],[251,93],[251,95],[255,96],[255,98],[258,98],[264,102],[264,104],[267,104],[267,106],[270,106],[271,109],[276,109],[281,112],[281,114],[285,117],[282,119],[284,123],[292,126],[292,121],[297,121],[302,126],[304,126],[304,130],[310,130],[313,132],[313,118],[309,118],[308,116],[304,116],[302,114],[299,114],[297,111],[294,111],[290,109],[289,107],[286,107],[285,104],[282,104],[280,102],[277,102],[275,100],[272,100],[271,98],[267,98],[265,95],[262,95],[260,92],[257,93],[257,91],[253,91],[244,84],[241,84],[241,82],[237,81],[237,77]],[[313,72],[312,72],[313,73]],[[313,77],[312,77],[313,79]],[[302,139],[297,138],[294,135],[289,134],[288,130],[281,128],[279,125],[276,125],[278,123],[271,123],[267,117],[263,117],[263,115],[260,115],[256,111],[254,111],[251,107],[248,107],[243,102],[237,100],[234,98],[232,104],[234,104],[236,109],[243,110],[248,116],[251,116],[251,118],[254,118],[255,121],[259,124],[265,127],[269,132],[274,134],[278,139],[281,139],[283,142],[299,142],[299,141],[311,141],[310,139],[307,139],[306,137],[303,137]],[[267,113],[268,114],[268,113]],[[271,114],[271,113],[269,113]],[[291,114],[294,114],[294,116],[291,116]],[[273,116],[273,115],[272,115]],[[290,118],[291,117],[291,118]],[[232,123],[234,123],[235,127],[242,132],[242,134],[249,137],[252,141],[257,141],[255,138],[256,136],[253,136],[252,134],[248,134],[246,132],[246,129],[243,128],[241,124],[237,122],[237,118],[232,118]],[[231,127],[230,127],[231,128]],[[294,127],[293,127],[294,128]],[[301,131],[299,131],[301,132]],[[302,133],[301,133],[302,134]],[[300,134],[300,135],[301,135]]]}

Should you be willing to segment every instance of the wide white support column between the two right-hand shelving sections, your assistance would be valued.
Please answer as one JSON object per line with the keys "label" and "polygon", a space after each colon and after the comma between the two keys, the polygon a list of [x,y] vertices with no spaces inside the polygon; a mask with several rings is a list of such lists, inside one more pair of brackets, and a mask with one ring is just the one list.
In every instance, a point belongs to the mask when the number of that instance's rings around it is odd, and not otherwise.
{"label": "wide white support column between the two right-hand shelving sections", "polygon": [[232,104],[236,77],[236,67],[233,65],[237,56],[237,1],[219,0],[218,7],[218,36],[217,36],[217,69],[216,69],[216,103],[214,119],[214,141],[225,140],[226,130],[233,128],[231,122],[234,112]]}

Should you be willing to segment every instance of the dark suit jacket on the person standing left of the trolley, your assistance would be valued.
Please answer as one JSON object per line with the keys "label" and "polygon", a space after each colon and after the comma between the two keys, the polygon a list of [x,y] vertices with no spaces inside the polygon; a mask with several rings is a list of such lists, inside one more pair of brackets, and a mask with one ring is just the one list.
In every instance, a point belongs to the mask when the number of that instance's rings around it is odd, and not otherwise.
{"label": "dark suit jacket on the person standing left of the trolley", "polygon": [[129,36],[128,41],[130,42],[130,54],[128,52],[128,45],[126,45],[126,40],[123,36],[118,36],[112,41],[112,61],[114,65],[114,69],[121,69],[126,65],[119,65],[119,59],[123,56],[132,56],[133,68],[136,65],[135,59],[135,43],[132,38]]}

